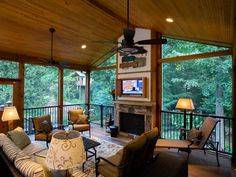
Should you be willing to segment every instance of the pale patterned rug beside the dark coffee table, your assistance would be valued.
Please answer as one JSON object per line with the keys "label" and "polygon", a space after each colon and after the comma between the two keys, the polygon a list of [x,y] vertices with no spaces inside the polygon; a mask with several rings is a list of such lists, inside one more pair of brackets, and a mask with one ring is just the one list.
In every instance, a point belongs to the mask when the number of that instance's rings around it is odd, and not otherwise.
{"label": "pale patterned rug beside the dark coffee table", "polygon": [[[111,156],[122,148],[122,146],[120,146],[120,145],[99,139],[97,137],[91,137],[91,139],[101,143],[101,145],[96,147],[97,157]],[[82,167],[79,167],[79,169],[81,169],[81,168]],[[86,163],[84,165],[84,173],[86,173],[88,175],[88,177],[95,177],[96,176],[95,175],[96,173],[95,173],[95,158],[94,157],[91,157],[86,161]]]}

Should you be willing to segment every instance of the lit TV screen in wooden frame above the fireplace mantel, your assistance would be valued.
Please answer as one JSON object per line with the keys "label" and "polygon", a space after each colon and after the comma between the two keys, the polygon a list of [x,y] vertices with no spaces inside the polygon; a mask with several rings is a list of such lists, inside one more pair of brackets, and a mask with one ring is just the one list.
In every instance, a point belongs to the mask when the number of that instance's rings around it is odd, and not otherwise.
{"label": "lit TV screen in wooden frame above the fireplace mantel", "polygon": [[131,79],[122,80],[122,94],[123,95],[142,95],[143,94],[143,80]]}

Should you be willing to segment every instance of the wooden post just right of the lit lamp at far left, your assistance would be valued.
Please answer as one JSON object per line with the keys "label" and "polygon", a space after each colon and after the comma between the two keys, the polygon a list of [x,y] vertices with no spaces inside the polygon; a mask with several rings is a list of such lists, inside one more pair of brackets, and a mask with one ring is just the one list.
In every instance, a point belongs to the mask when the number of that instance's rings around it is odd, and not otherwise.
{"label": "wooden post just right of the lit lamp at far left", "polygon": [[19,62],[19,71],[18,71],[18,78],[20,80],[18,88],[19,88],[19,96],[18,96],[18,107],[17,111],[20,116],[20,125],[24,128],[24,77],[25,77],[25,64],[22,62]]}

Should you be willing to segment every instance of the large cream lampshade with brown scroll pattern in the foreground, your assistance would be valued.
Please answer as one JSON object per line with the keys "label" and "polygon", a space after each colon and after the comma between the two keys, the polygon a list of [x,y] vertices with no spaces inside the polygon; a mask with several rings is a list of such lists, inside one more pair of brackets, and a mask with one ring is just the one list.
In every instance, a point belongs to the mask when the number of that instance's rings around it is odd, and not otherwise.
{"label": "large cream lampshade with brown scroll pattern in the foreground", "polygon": [[46,156],[46,164],[54,170],[67,170],[84,163],[86,154],[80,133],[61,131],[52,136]]}

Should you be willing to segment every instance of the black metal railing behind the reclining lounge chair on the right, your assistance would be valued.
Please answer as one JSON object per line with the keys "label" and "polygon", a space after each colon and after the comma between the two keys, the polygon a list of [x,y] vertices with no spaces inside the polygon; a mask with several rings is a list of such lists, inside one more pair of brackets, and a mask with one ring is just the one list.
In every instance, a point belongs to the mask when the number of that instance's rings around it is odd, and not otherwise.
{"label": "black metal railing behind the reclining lounge chair on the right", "polygon": [[218,119],[219,123],[210,138],[214,142],[219,142],[220,152],[232,153],[232,118],[186,113],[186,123],[184,123],[184,113],[173,111],[161,111],[161,113],[161,137],[165,139],[179,139],[180,129],[184,128],[184,125],[186,125],[186,129],[190,129],[191,127],[201,127],[208,116]]}

